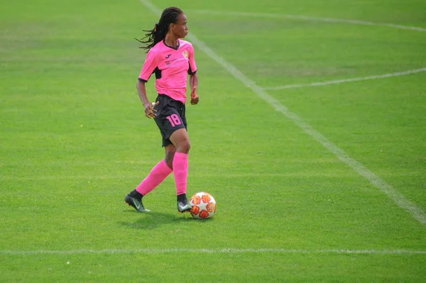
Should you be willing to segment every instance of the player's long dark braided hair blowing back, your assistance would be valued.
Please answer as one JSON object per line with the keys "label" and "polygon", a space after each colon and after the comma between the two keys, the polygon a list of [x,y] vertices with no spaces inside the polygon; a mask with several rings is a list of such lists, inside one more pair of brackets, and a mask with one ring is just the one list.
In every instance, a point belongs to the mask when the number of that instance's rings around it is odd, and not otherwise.
{"label": "player's long dark braided hair blowing back", "polygon": [[165,38],[165,35],[168,33],[168,27],[170,23],[177,23],[178,16],[183,13],[182,10],[176,7],[170,7],[163,11],[160,17],[160,21],[155,23],[155,27],[152,30],[143,30],[146,32],[145,37],[141,40],[135,38],[140,43],[145,43],[146,46],[140,48],[146,49],[146,52],[154,47],[155,44],[159,43]]}

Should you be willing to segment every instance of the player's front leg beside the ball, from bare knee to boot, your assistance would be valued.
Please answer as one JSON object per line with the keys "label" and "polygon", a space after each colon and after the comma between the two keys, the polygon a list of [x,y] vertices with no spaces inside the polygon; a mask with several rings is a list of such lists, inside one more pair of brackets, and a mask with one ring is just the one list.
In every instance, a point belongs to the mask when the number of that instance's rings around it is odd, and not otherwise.
{"label": "player's front leg beside the ball, from bare knee to boot", "polygon": [[176,152],[173,157],[173,175],[175,177],[176,195],[178,198],[178,211],[190,211],[192,206],[188,204],[187,175],[188,175],[188,152],[190,152],[190,139],[185,128],[181,128],[172,135],[170,141],[175,145]]}

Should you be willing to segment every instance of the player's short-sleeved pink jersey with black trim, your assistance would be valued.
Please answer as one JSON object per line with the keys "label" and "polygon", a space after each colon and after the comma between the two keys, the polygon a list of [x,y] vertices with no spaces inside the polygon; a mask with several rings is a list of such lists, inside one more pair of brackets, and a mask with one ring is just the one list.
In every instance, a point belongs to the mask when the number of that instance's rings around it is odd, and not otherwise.
{"label": "player's short-sleeved pink jersey with black trim", "polygon": [[148,82],[155,73],[155,89],[172,99],[185,103],[187,74],[195,74],[194,48],[185,40],[178,40],[178,46],[171,48],[164,40],[148,51],[139,80]]}

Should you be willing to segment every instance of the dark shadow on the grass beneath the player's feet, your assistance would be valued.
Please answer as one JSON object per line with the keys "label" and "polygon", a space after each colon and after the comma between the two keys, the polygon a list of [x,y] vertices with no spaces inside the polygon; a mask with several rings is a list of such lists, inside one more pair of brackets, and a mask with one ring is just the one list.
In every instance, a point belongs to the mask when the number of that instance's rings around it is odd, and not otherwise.
{"label": "dark shadow on the grass beneath the player's feet", "polygon": [[125,211],[125,213],[131,213],[133,216],[137,215],[138,218],[133,221],[120,221],[119,224],[132,229],[154,229],[160,226],[169,225],[172,223],[181,223],[182,221],[195,221],[190,213],[164,213],[158,211],[151,212],[137,212],[137,211]]}

